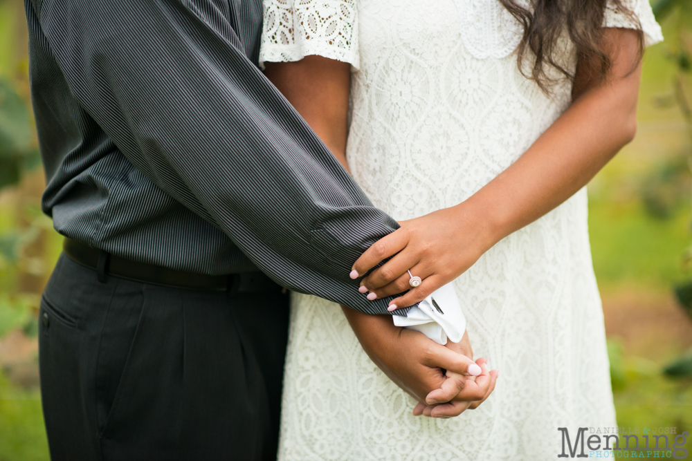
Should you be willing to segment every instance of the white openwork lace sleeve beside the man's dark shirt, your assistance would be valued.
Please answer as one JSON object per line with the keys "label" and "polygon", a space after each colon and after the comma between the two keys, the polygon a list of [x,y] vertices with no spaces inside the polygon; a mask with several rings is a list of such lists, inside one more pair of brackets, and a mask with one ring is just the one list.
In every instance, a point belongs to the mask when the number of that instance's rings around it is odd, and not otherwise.
{"label": "white openwork lace sleeve beside the man's dark shirt", "polygon": [[264,0],[260,66],[308,55],[360,66],[356,0]]}

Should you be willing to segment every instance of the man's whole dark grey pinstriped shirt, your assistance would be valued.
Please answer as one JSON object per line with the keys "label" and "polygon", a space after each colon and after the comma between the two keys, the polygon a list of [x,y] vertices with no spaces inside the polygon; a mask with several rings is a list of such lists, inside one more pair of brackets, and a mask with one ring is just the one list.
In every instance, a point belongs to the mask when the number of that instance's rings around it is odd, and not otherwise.
{"label": "man's whole dark grey pinstriped shirt", "polygon": [[177,270],[260,269],[389,313],[348,274],[398,224],[260,72],[261,0],[25,6],[42,206],[58,232]]}

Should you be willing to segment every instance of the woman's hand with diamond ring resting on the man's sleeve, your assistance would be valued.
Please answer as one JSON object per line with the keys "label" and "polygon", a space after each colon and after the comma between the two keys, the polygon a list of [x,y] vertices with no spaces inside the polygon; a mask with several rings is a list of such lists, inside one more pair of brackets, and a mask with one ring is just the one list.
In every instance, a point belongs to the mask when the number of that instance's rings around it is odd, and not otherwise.
{"label": "woman's hand with diamond ring resting on the man's sleeve", "polygon": [[[402,221],[401,228],[363,253],[354,264],[358,274],[365,274],[383,259],[394,256],[361,281],[363,292],[370,292],[368,299],[409,290],[390,302],[390,310],[405,308],[425,299],[471,267],[495,243],[496,237],[484,222],[482,212],[473,209],[470,203]],[[416,288],[408,285],[407,270],[422,279]]]}

